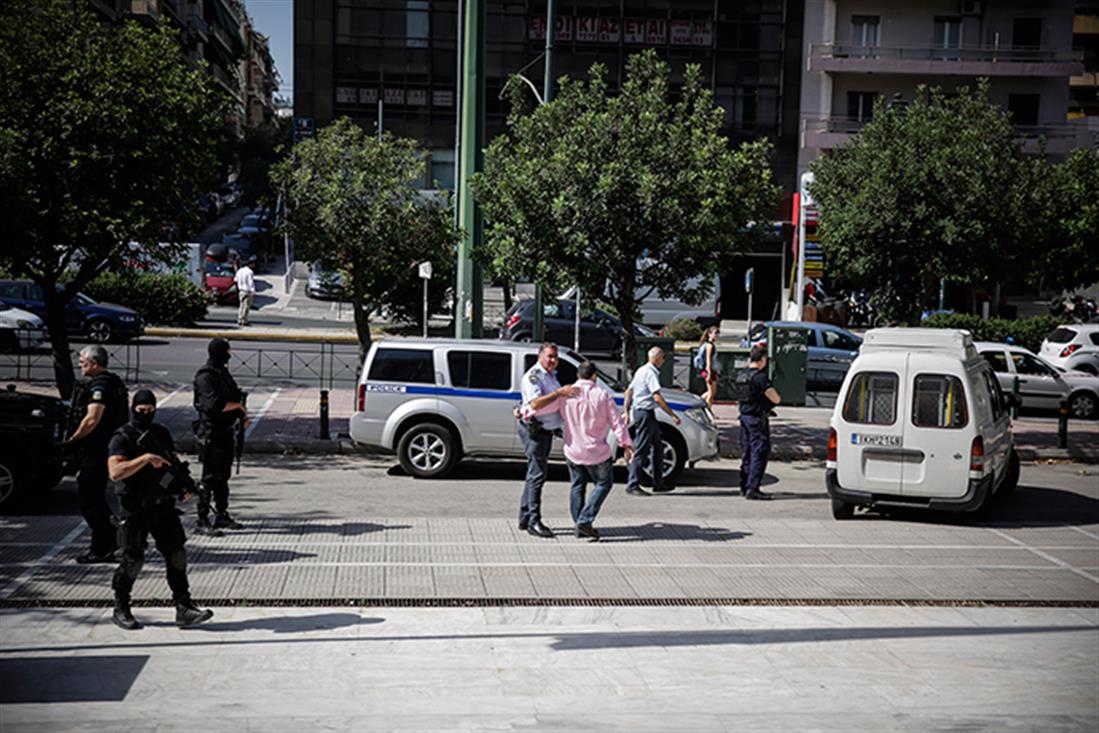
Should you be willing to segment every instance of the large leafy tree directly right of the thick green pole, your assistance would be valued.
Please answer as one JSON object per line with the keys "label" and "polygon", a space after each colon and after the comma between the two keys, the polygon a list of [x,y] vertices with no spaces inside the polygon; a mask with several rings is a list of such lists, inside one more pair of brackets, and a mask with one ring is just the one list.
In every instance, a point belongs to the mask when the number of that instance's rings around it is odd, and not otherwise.
{"label": "large leafy tree directly right of the thick green pole", "polygon": [[473,181],[486,269],[553,289],[579,285],[612,304],[631,366],[641,301],[701,302],[778,196],[769,144],[732,148],[701,70],[688,66],[681,89],[669,77],[646,51],[630,58],[619,93],[600,64],[587,81],[563,78],[552,102],[529,113],[513,104]]}

